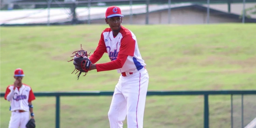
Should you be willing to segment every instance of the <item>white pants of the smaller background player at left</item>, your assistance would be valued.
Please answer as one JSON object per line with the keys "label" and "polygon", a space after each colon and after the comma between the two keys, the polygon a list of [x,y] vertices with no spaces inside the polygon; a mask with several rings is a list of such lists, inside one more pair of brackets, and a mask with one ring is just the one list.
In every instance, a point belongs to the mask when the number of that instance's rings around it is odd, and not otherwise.
{"label": "white pants of the smaller background player at left", "polygon": [[26,128],[29,112],[12,112],[9,128]]}

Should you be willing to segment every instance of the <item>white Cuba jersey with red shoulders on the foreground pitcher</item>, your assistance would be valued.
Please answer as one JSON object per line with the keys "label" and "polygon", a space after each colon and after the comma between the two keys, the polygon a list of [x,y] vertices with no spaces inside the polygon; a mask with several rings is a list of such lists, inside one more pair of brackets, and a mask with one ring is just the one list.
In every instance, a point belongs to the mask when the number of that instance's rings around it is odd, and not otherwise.
{"label": "white Cuba jersey with red shoulders on the foreground pitcher", "polygon": [[[136,72],[146,66],[140,55],[136,36],[127,28],[121,26],[119,33],[113,37],[112,30],[106,28],[102,32],[101,38],[104,38],[106,52],[111,61],[117,59],[118,54],[128,55],[124,66],[117,69],[118,73]],[[122,53],[119,53],[122,49]]]}

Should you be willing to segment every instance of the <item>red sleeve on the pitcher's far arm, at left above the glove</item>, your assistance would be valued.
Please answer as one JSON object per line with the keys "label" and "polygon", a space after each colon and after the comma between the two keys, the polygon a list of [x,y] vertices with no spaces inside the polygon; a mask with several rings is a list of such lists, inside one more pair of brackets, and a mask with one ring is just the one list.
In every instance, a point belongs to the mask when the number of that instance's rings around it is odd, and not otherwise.
{"label": "red sleeve on the pitcher's far arm, at left above the glove", "polygon": [[96,63],[98,60],[100,60],[100,58],[103,56],[104,53],[107,53],[107,51],[106,51],[106,45],[105,45],[104,36],[102,32],[100,36],[99,44],[96,50],[94,51],[94,53],[89,57],[89,59],[91,60],[92,63]]}

